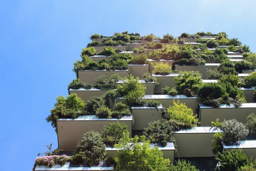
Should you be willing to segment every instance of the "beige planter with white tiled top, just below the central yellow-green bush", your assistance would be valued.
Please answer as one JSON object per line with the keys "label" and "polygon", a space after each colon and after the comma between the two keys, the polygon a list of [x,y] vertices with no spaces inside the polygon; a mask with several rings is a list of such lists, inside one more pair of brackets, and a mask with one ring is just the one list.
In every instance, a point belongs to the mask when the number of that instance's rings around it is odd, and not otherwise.
{"label": "beige planter with white tiled top, just below the central yellow-green bush", "polygon": [[175,157],[214,157],[212,154],[212,139],[217,132],[223,132],[219,127],[193,127],[175,131],[177,153]]}

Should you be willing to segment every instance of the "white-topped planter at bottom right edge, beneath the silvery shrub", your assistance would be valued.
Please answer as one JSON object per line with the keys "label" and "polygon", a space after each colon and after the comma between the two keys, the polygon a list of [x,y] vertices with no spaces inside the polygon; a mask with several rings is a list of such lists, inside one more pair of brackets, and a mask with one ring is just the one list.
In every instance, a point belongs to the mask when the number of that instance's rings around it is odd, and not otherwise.
{"label": "white-topped planter at bottom right edge, beneath the silvery shrub", "polygon": [[252,161],[256,159],[256,140],[245,140],[245,141],[237,141],[232,142],[230,145],[226,145],[222,142],[223,151],[231,151],[232,149],[242,149],[243,153],[248,157],[248,159],[252,156]]}

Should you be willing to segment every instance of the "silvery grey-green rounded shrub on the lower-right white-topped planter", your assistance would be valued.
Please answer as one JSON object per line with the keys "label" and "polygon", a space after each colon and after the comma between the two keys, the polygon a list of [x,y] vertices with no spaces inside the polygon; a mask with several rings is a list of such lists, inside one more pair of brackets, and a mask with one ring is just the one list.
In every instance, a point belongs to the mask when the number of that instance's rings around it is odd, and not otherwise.
{"label": "silvery grey-green rounded shrub on the lower-right white-topped planter", "polygon": [[248,129],[245,128],[245,125],[241,122],[238,122],[236,119],[225,121],[221,128],[225,133],[223,140],[227,145],[229,145],[231,141],[239,141],[245,139],[249,133]]}

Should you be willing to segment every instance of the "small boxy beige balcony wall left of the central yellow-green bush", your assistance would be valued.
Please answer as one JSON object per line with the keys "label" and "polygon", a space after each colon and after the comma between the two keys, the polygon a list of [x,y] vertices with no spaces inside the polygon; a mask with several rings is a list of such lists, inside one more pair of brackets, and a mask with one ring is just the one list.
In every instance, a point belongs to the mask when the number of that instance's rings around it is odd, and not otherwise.
{"label": "small boxy beige balcony wall left of the central yellow-green bush", "polygon": [[159,111],[155,107],[132,107],[134,118],[133,130],[143,130],[148,127],[151,121],[162,119],[162,108],[159,106]]}

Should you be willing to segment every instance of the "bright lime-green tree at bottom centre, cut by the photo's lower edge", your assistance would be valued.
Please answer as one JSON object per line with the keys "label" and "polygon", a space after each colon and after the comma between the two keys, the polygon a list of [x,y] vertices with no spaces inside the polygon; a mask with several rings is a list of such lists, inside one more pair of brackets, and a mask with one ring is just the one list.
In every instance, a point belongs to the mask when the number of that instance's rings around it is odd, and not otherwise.
{"label": "bright lime-green tree at bottom centre, cut by the photo's lower edge", "polygon": [[158,147],[150,148],[149,141],[141,140],[143,143],[137,143],[138,140],[139,137],[135,136],[130,139],[131,143],[123,141],[115,145],[119,149],[119,156],[115,157],[115,170],[170,170],[170,160],[163,158],[163,153]]}

